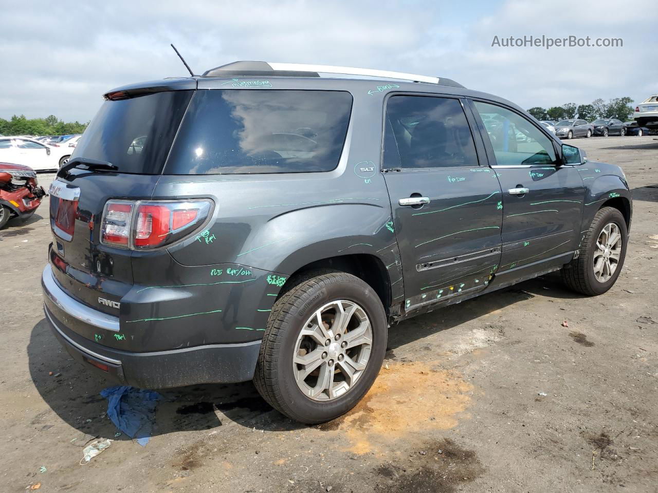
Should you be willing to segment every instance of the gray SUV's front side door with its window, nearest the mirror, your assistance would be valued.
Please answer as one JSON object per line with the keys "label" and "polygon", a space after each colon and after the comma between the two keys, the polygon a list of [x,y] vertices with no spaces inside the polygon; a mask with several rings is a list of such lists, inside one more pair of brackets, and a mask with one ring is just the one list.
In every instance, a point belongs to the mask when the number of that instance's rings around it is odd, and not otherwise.
{"label": "gray SUV's front side door with its window, nearest the mirror", "polygon": [[[577,166],[565,165],[553,140],[511,108],[472,101],[476,116],[501,122],[497,131],[479,124],[503,191],[501,281],[547,271],[569,262],[580,240],[584,186]],[[528,137],[505,145],[516,128]],[[582,171],[582,170],[580,170]]]}

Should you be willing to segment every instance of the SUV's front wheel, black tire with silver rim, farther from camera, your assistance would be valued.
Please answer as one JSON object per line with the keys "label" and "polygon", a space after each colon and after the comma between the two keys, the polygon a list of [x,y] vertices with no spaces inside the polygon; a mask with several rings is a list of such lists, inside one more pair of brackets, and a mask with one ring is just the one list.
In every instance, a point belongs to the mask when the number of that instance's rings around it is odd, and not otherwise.
{"label": "SUV's front wheel, black tire with silver rim, farther from camera", "polygon": [[596,296],[608,291],[624,266],[628,231],[614,207],[603,207],[580,243],[580,254],[562,268],[562,280],[578,293]]}

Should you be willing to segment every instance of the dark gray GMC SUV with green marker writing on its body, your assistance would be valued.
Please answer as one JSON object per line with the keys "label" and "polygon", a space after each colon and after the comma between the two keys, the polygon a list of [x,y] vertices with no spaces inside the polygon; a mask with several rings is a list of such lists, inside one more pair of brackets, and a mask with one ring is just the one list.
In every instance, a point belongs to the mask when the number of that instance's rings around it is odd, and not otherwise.
{"label": "dark gray GMC SUV with green marker writing on its body", "polygon": [[632,214],[618,166],[509,101],[265,62],[110,91],[50,193],[45,314],[76,360],[254,379],[305,423],[363,397],[392,323],[556,270],[605,293]]}

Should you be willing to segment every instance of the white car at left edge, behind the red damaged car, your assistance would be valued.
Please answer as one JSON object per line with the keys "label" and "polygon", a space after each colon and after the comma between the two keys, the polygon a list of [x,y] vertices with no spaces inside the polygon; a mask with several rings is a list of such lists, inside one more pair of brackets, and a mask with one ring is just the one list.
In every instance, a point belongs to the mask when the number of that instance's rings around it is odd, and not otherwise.
{"label": "white car at left edge, behind the red damaged car", "polygon": [[53,147],[26,137],[0,137],[0,162],[24,164],[35,171],[61,168],[72,151],[70,147]]}

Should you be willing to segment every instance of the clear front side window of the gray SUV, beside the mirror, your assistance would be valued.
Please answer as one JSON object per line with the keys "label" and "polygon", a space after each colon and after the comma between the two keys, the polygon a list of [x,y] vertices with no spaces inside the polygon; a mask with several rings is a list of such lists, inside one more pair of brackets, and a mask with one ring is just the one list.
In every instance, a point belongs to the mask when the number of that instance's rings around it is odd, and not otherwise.
{"label": "clear front side window of the gray SUV, beside the mirror", "polygon": [[501,106],[480,101],[475,101],[475,107],[484,121],[497,164],[555,162],[551,139],[526,118]]}

